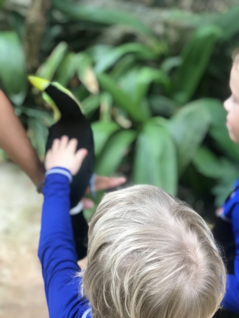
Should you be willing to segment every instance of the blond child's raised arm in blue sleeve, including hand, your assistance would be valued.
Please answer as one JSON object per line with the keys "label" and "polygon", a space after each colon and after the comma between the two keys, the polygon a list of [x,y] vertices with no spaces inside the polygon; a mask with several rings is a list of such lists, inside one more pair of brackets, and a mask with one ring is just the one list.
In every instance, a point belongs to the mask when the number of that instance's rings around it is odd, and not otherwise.
{"label": "blond child's raised arm in blue sleeve, including hand", "polygon": [[77,140],[63,136],[47,152],[38,256],[50,318],[88,317],[89,302],[79,296],[77,255],[70,209],[70,180],[80,169],[86,149],[76,152]]}

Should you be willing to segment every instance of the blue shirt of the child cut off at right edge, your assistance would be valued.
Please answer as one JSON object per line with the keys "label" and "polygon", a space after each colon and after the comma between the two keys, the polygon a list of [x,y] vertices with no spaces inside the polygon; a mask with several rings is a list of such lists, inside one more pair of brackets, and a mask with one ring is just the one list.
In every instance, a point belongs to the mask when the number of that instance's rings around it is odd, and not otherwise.
{"label": "blue shirt of the child cut off at right edge", "polygon": [[235,183],[235,190],[222,206],[221,218],[231,223],[235,241],[234,274],[228,274],[226,293],[222,306],[239,313],[239,180]]}

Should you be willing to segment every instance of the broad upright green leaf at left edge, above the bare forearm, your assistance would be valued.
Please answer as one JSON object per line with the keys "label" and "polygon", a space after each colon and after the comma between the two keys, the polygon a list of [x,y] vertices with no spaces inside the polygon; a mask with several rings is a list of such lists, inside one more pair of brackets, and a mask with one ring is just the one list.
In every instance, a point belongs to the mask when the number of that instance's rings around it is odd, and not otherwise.
{"label": "broad upright green leaf at left edge, above the bare forearm", "polygon": [[21,105],[27,91],[24,53],[15,32],[0,32],[0,82],[16,105]]}

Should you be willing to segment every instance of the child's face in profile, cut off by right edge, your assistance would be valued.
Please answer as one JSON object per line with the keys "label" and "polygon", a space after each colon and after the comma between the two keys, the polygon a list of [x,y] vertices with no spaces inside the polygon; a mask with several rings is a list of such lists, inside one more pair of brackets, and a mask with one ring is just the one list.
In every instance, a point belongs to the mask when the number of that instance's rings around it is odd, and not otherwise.
{"label": "child's face in profile, cut off by right edge", "polygon": [[228,112],[227,128],[232,141],[239,143],[239,62],[235,63],[230,76],[231,96],[224,102]]}

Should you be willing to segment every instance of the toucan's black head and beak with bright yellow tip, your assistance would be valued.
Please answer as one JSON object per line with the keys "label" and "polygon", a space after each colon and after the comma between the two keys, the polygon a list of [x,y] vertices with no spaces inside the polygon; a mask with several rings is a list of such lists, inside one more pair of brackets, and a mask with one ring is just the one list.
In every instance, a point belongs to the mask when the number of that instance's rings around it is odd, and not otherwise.
{"label": "toucan's black head and beak with bright yellow tip", "polygon": [[50,82],[36,76],[28,76],[31,84],[42,92],[43,99],[52,107],[54,121],[84,118],[81,104],[75,96],[57,82]]}

